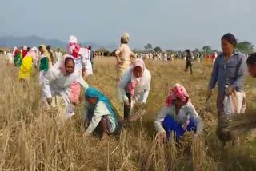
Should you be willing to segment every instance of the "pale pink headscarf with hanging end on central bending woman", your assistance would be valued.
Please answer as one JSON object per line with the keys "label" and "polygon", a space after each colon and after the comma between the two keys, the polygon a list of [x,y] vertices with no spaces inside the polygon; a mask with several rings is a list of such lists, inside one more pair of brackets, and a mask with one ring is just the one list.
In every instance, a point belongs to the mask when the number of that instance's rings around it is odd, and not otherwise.
{"label": "pale pink headscarf with hanging end on central bending woman", "polygon": [[134,89],[135,86],[138,85],[139,82],[141,82],[141,77],[140,78],[136,78],[134,77],[134,69],[136,66],[139,66],[142,69],[142,75],[144,73],[145,70],[145,63],[143,62],[142,59],[136,59],[134,62],[134,66],[133,69],[131,70],[131,82],[129,84],[129,88],[130,88],[130,94],[134,95]]}

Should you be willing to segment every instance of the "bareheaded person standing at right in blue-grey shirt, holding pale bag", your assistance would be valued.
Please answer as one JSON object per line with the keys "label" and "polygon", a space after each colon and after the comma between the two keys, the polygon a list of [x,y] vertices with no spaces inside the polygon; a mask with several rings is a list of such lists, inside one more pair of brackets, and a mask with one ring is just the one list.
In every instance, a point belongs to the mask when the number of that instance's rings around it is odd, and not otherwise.
{"label": "bareheaded person standing at right in blue-grey shirt, holding pale bag", "polygon": [[[222,36],[223,52],[216,58],[211,74],[208,97],[212,96],[212,90],[218,82],[218,116],[244,113],[246,109],[243,86],[247,71],[247,58],[245,54],[234,50],[236,45],[237,41],[233,34]],[[233,113],[230,113],[230,109],[233,109]]]}

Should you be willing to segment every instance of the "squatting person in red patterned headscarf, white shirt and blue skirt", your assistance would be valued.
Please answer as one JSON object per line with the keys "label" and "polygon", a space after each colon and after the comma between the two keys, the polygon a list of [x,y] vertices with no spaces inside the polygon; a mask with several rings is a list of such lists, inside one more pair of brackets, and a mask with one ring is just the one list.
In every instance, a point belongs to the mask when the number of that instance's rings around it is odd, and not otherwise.
{"label": "squatting person in red patterned headscarf, white shirt and blue skirt", "polygon": [[183,85],[175,84],[166,97],[166,105],[154,118],[154,128],[162,141],[170,141],[171,132],[178,140],[186,131],[192,131],[195,136],[202,134],[203,123],[189,94]]}

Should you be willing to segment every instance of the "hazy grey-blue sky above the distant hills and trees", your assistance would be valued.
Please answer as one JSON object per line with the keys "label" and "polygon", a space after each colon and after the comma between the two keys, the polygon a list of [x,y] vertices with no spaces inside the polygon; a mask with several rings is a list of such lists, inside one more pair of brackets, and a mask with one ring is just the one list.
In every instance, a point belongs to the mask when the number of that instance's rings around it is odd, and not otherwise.
{"label": "hazy grey-blue sky above the distant hills and trees", "polygon": [[256,43],[255,0],[1,0],[0,37],[38,35],[66,41],[147,42],[164,49],[220,49],[228,32]]}

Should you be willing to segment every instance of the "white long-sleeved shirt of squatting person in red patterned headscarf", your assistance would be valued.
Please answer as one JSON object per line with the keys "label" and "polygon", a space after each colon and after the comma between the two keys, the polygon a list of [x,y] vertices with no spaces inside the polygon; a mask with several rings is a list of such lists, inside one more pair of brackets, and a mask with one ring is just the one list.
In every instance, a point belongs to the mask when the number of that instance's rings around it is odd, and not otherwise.
{"label": "white long-sleeved shirt of squatting person in red patterned headscarf", "polygon": [[202,133],[203,123],[201,117],[199,117],[197,111],[194,109],[194,105],[188,102],[186,105],[183,105],[179,110],[178,115],[175,113],[175,105],[166,107],[166,105],[160,110],[158,116],[154,118],[154,128],[158,133],[165,132],[165,129],[162,127],[162,121],[164,121],[166,115],[172,115],[177,117],[177,120],[183,125],[185,121],[190,117],[194,120],[197,127],[197,134]]}

